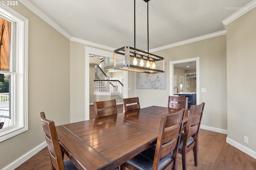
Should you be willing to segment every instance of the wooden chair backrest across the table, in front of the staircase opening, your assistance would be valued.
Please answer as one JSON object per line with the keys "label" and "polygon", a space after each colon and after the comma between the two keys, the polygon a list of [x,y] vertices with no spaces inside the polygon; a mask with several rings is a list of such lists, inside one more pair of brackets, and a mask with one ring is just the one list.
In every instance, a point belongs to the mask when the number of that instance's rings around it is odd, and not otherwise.
{"label": "wooden chair backrest across the table, in front of the staircase opening", "polygon": [[116,100],[94,102],[95,118],[117,114]]}

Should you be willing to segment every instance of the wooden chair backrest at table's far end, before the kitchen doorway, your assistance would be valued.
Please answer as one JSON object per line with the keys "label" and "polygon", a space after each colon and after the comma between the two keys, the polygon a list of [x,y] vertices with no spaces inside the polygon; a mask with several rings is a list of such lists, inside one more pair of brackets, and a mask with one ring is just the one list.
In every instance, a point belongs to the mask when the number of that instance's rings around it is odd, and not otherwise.
{"label": "wooden chair backrest at table's far end, before the kitchen doorway", "polygon": [[188,110],[188,97],[169,96],[168,107]]}

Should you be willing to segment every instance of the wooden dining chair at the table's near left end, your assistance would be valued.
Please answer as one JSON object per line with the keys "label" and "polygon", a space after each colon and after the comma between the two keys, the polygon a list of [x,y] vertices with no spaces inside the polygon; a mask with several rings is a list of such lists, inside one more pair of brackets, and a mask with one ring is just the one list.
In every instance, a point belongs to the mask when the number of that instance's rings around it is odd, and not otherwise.
{"label": "wooden dining chair at the table's near left end", "polygon": [[54,121],[45,118],[44,112],[40,113],[40,118],[44,130],[47,148],[50,154],[53,170],[77,170],[70,159],[63,162],[64,152],[60,149],[60,144]]}

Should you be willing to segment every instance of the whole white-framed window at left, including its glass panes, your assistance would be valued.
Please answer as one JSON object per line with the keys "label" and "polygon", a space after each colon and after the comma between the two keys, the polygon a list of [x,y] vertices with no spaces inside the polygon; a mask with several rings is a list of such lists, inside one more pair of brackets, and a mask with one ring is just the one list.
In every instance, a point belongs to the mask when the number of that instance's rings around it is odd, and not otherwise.
{"label": "whole white-framed window at left, including its glass panes", "polygon": [[[1,34],[4,24],[4,32],[9,32],[10,41],[10,49],[4,52],[7,54],[5,58],[2,49],[0,53],[0,84],[9,84],[9,89],[4,91],[8,94],[8,115],[5,118],[11,118],[8,126],[0,129],[1,142],[28,130],[28,19],[8,6],[1,6],[0,18],[5,22],[0,23]],[[0,96],[0,103],[2,98]]]}

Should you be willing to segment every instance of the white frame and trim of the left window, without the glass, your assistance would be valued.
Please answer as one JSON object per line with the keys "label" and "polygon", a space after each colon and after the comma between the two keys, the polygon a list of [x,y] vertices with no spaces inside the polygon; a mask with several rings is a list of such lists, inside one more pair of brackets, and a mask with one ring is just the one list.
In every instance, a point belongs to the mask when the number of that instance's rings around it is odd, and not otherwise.
{"label": "white frame and trim of the left window, without the glass", "polygon": [[[12,23],[10,46],[10,72],[14,125],[0,129],[0,142],[28,130],[28,19],[8,6],[1,6],[0,16]],[[13,57],[11,57],[13,56]]]}

